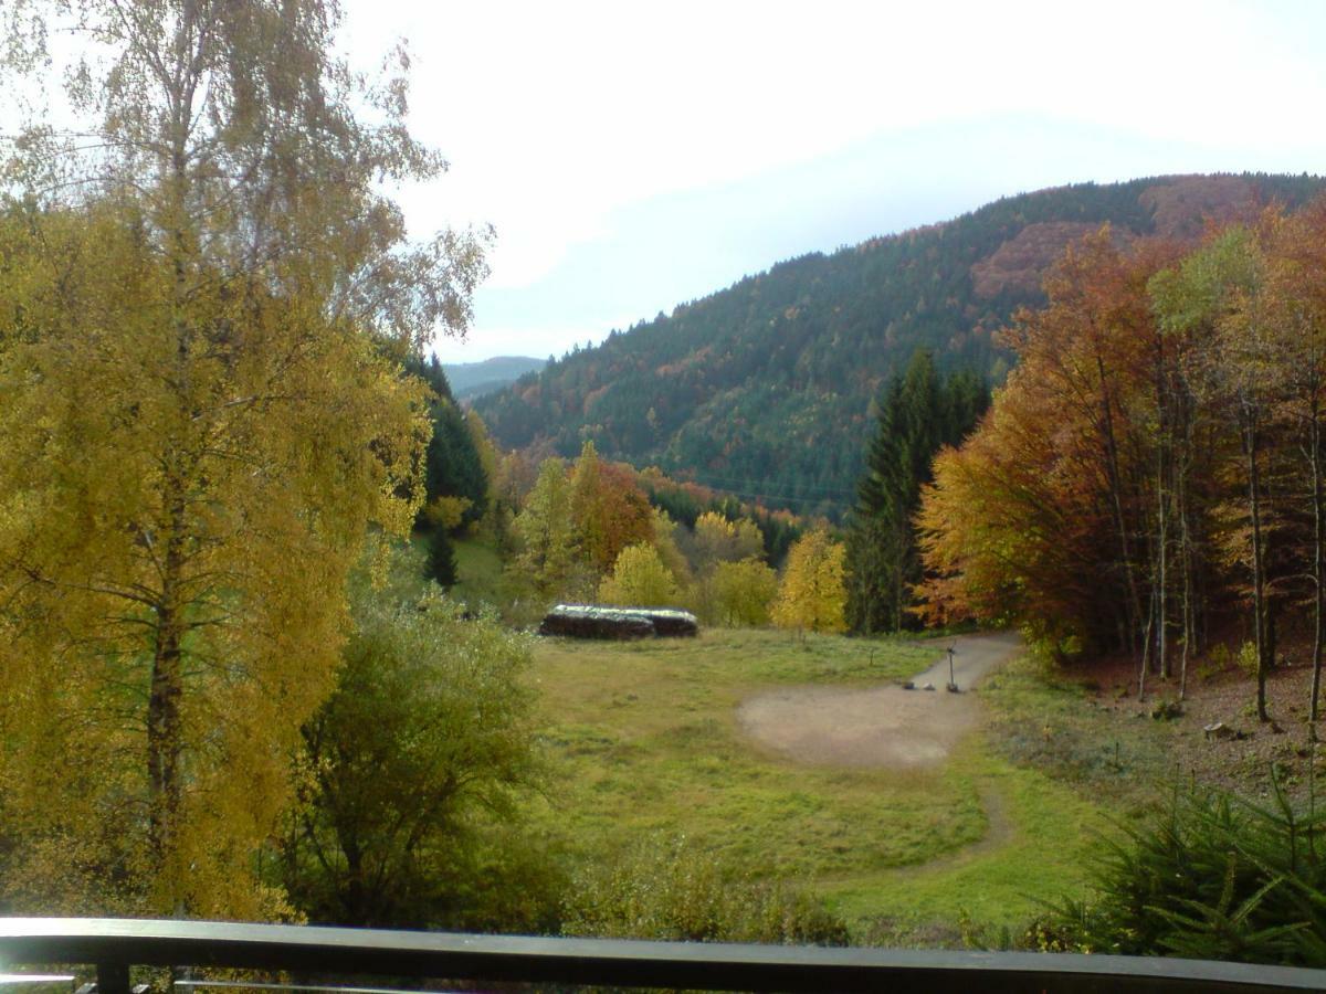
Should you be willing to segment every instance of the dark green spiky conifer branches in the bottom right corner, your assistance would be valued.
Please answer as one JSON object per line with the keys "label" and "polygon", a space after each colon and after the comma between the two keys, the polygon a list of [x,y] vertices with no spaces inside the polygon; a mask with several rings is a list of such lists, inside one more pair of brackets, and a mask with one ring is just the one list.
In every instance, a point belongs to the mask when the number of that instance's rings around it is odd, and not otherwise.
{"label": "dark green spiky conifer branches in the bottom right corner", "polygon": [[1094,869],[1094,897],[1058,903],[1048,949],[1326,966],[1322,814],[1192,789],[1126,827]]}

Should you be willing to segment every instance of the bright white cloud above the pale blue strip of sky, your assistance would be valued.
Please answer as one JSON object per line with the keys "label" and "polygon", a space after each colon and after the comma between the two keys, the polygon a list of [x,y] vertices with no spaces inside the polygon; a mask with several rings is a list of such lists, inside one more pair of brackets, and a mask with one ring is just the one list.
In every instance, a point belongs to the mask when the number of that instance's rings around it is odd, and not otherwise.
{"label": "bright white cloud above the pale blue strip of sky", "polygon": [[1307,146],[1319,139],[1305,111],[1326,98],[1323,53],[1303,46],[1309,4],[349,0],[347,11],[365,60],[410,40],[415,126],[453,163],[436,191],[406,197],[416,227],[493,223],[499,286],[546,274],[625,204],[879,131],[1020,113]]}

